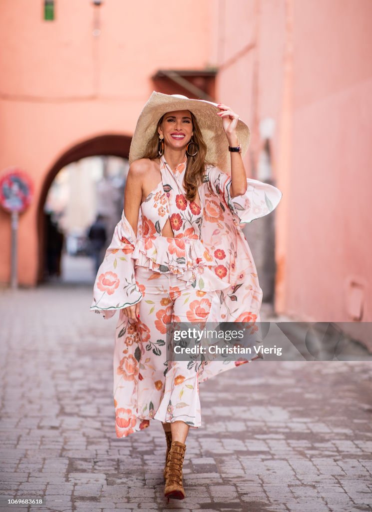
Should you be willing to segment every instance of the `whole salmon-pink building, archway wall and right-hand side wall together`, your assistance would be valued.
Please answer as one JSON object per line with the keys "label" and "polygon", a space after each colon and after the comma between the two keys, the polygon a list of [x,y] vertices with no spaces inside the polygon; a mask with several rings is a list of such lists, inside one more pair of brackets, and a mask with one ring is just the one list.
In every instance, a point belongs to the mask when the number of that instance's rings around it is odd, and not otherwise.
{"label": "whole salmon-pink building, archway wall and right-hand side wall together", "polygon": [[[204,94],[249,124],[248,173],[283,192],[276,311],[371,321],[369,0],[56,0],[54,20],[42,0],[14,0],[0,13],[0,173],[16,165],[35,183],[20,219],[22,285],[40,280],[41,212],[58,170],[84,156],[126,157],[153,89]],[[3,211],[0,232],[8,283]]]}

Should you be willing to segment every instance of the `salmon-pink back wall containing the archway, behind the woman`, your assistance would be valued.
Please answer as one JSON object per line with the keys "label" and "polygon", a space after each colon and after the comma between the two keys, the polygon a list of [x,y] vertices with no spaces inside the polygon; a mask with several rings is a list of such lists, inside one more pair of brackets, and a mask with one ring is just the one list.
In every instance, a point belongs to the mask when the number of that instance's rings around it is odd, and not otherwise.
{"label": "salmon-pink back wall containing the archway, behind the woman", "polygon": [[[17,165],[35,183],[19,225],[19,282],[37,275],[37,202],[54,162],[80,141],[133,133],[159,68],[209,65],[209,2],[161,4],[110,0],[56,2],[45,22],[43,2],[2,3],[0,15],[0,170]],[[92,35],[94,9],[101,34]],[[196,15],[197,13],[197,15]],[[10,277],[10,222],[0,211],[0,282]]]}

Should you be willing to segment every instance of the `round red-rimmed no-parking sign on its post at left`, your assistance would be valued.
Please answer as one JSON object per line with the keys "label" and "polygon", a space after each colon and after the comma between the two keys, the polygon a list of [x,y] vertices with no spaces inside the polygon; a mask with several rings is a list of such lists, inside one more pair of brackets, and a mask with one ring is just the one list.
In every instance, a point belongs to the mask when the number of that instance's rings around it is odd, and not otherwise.
{"label": "round red-rimmed no-parking sign on its post at left", "polygon": [[0,205],[11,214],[11,287],[18,286],[18,219],[19,214],[30,205],[32,182],[22,170],[13,167],[6,169],[0,177]]}

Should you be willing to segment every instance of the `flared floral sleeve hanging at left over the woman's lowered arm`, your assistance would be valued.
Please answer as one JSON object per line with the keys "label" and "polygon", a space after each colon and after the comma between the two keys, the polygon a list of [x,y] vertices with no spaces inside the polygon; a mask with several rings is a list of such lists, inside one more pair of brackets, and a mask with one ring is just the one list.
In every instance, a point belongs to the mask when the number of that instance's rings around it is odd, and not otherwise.
{"label": "flared floral sleeve hanging at left over the woman's lowered arm", "polygon": [[98,270],[91,311],[110,318],[117,309],[141,301],[143,295],[135,281],[131,253],[137,243],[134,231],[124,211],[115,227],[111,244]]}

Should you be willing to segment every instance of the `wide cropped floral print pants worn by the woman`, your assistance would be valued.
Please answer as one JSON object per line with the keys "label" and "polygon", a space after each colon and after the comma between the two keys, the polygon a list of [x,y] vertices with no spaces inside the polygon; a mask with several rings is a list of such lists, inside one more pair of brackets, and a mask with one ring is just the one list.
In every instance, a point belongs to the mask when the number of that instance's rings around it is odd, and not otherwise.
{"label": "wide cropped floral print pants worn by the woman", "polygon": [[139,303],[137,416],[162,422],[181,420],[196,428],[201,425],[197,371],[201,363],[196,361],[188,368],[189,360],[167,359],[167,324],[202,325],[210,319],[217,294],[195,290],[173,273],[141,266],[135,268],[135,279],[144,296]]}

